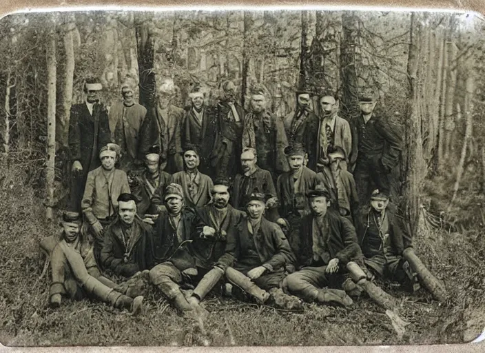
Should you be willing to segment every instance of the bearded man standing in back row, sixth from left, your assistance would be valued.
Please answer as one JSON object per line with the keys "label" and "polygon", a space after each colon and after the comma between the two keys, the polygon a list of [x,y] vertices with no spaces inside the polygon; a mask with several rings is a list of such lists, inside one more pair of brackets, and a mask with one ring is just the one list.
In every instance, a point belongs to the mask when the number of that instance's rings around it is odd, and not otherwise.
{"label": "bearded man standing in back row, sixth from left", "polygon": [[243,148],[254,148],[260,168],[268,170],[273,180],[289,170],[285,158],[287,134],[281,119],[266,110],[265,89],[251,90],[250,111],[246,114],[243,130]]}

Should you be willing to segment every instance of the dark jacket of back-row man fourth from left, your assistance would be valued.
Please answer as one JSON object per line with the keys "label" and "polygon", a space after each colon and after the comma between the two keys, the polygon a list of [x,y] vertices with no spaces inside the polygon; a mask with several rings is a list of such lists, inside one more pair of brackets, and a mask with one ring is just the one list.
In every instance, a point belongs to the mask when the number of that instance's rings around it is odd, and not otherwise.
{"label": "dark jacket of back-row man fourth from left", "polygon": [[182,127],[182,147],[187,150],[189,146],[195,146],[200,157],[199,170],[207,174],[210,170],[210,157],[216,143],[218,121],[214,109],[204,107],[202,124],[194,114],[194,109],[190,108],[185,113],[185,121]]}

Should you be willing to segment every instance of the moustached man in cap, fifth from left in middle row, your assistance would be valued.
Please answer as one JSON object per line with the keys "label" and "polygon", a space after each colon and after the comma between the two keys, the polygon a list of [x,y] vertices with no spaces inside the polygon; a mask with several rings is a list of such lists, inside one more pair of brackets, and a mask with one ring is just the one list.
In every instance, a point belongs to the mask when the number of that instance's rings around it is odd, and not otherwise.
{"label": "moustached man in cap, fifth from left in middle row", "polygon": [[316,172],[304,165],[305,154],[305,148],[299,143],[285,148],[291,170],[281,174],[276,185],[282,217],[276,223],[288,231],[288,241],[295,252],[299,249],[301,218],[310,210],[307,192],[320,182]]}

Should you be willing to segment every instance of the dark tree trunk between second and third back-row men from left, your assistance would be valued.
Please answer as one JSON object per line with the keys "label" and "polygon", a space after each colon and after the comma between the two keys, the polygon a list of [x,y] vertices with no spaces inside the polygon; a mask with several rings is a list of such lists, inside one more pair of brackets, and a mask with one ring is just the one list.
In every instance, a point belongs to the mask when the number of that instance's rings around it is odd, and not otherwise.
{"label": "dark tree trunk between second and third back-row men from left", "polygon": [[154,72],[155,39],[152,32],[153,14],[141,12],[135,17],[136,46],[138,48],[138,74],[140,104],[149,108],[156,97]]}

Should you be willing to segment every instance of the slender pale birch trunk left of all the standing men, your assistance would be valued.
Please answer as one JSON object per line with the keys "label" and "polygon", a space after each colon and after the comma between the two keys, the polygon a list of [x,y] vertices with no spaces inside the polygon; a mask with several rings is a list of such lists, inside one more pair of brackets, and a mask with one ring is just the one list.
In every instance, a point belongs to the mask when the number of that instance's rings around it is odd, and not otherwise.
{"label": "slender pale birch trunk left of all the standing men", "polygon": [[48,113],[47,113],[47,197],[45,218],[52,220],[52,204],[54,202],[54,163],[56,157],[56,37],[55,30],[50,34],[47,48],[48,70]]}

